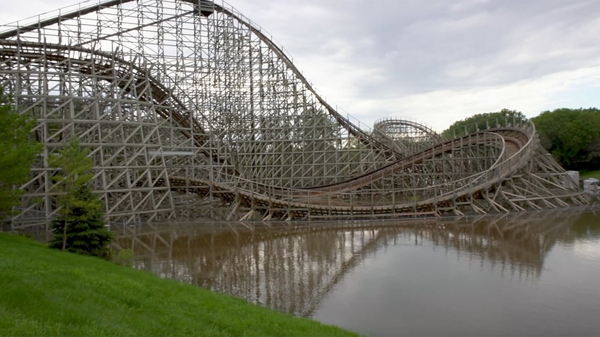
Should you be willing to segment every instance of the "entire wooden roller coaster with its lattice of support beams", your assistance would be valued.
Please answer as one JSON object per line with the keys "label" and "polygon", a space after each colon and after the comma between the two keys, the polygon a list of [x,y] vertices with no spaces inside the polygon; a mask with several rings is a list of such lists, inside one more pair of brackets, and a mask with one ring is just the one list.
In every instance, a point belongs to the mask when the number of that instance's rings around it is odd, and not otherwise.
{"label": "entire wooden roller coaster with its lattice of support beams", "polygon": [[385,218],[586,202],[529,123],[450,141],[338,114],[231,6],[117,0],[0,28],[0,85],[45,148],[13,226],[57,212],[47,158],[91,148],[111,221]]}

